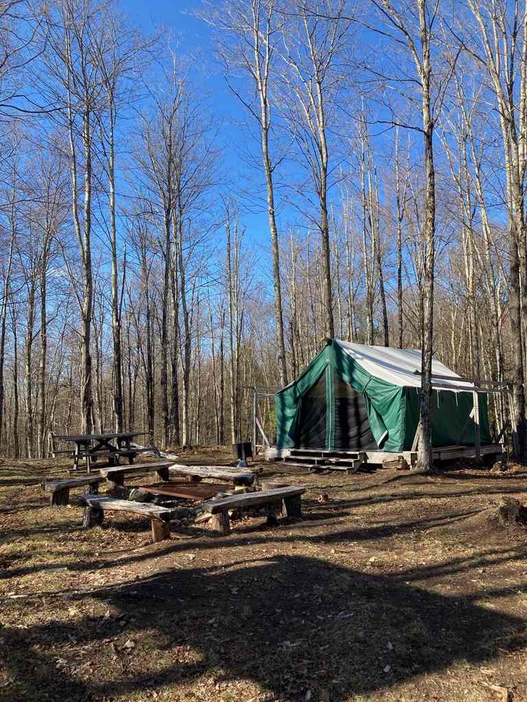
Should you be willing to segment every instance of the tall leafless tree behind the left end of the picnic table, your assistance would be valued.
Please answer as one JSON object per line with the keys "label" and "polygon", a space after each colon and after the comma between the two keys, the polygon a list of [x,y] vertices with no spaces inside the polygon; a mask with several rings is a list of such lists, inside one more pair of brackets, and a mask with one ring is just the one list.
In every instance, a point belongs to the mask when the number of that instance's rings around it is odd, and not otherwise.
{"label": "tall leafless tree behind the left end of the picnic table", "polygon": [[[80,397],[81,429],[93,428],[91,362],[91,317],[93,311],[93,273],[91,229],[93,208],[93,157],[95,125],[101,109],[101,77],[97,60],[100,15],[91,0],[57,0],[46,8],[47,50],[46,88],[49,99],[58,105],[57,119],[65,127],[69,143],[72,218],[81,263],[81,279],[69,266],[81,316]],[[82,158],[81,158],[82,154]],[[82,204],[80,178],[83,179]],[[81,214],[82,208],[82,214]]]}

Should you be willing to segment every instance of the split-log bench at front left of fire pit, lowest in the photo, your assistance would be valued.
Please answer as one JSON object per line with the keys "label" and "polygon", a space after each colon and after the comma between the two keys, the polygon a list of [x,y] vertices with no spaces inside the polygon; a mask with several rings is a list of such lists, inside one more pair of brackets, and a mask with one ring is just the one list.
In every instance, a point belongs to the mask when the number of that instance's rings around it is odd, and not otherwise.
{"label": "split-log bench at front left of fire pit, lowest in the photo", "polygon": [[131,512],[134,515],[141,515],[141,517],[150,517],[152,543],[170,538],[172,510],[166,507],[129,500],[115,500],[111,497],[99,497],[98,495],[82,495],[81,499],[86,504],[82,517],[82,526],[86,529],[102,524],[106,510]]}

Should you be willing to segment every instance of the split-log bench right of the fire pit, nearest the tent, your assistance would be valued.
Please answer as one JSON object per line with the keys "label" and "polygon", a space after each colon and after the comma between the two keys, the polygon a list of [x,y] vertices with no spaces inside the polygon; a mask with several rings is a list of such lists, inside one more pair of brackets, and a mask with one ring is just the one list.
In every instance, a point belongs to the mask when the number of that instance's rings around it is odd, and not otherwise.
{"label": "split-log bench right of the fire pit, nearest the tent", "polygon": [[256,505],[273,505],[282,503],[283,513],[286,517],[301,517],[301,495],[306,491],[303,487],[289,485],[273,490],[260,490],[241,495],[230,495],[220,500],[204,502],[202,512],[212,515],[212,528],[221,536],[230,534],[230,520],[228,510],[243,507],[256,507]]}

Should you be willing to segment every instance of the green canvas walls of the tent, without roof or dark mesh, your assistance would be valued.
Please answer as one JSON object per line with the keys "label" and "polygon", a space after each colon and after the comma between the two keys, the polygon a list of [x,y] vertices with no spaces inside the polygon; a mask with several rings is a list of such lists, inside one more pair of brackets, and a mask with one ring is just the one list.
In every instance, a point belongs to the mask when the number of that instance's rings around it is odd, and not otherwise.
{"label": "green canvas walls of the tent, without roof or dark mesh", "polygon": [[[344,352],[338,343],[328,343],[301,375],[275,395],[275,420],[278,448],[294,447],[301,398],[325,373],[326,449],[333,449],[334,373],[363,395],[370,429],[384,451],[409,451],[419,420],[419,393],[415,388],[394,385],[367,373]],[[479,395],[481,442],[490,442],[488,401]],[[434,390],[432,401],[432,444],[448,446],[474,444],[475,425],[468,420],[472,409],[471,392]],[[465,429],[464,429],[465,428]],[[464,430],[464,431],[463,431]],[[463,435],[462,435],[463,432]]]}

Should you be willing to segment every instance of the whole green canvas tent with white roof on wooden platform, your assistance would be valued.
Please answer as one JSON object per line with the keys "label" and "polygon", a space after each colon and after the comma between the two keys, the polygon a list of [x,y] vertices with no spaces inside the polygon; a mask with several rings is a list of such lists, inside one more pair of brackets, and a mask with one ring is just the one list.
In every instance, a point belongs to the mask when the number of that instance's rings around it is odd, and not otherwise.
{"label": "whole green canvas tent with white roof on wooden platform", "polygon": [[[277,449],[409,451],[419,420],[420,370],[419,350],[328,341],[275,395]],[[446,376],[434,380],[433,446],[473,446],[474,385],[435,359],[432,373]],[[486,392],[476,397],[481,444],[488,444]]]}

